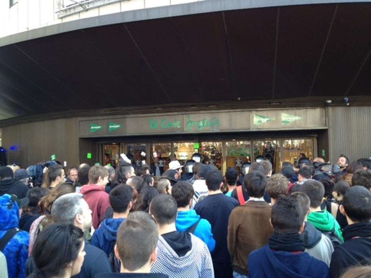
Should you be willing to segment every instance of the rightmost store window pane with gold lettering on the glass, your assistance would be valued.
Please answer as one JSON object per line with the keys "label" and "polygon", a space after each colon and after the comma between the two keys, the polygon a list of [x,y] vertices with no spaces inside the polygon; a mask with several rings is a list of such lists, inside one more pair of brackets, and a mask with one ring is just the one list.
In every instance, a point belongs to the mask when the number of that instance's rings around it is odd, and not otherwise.
{"label": "rightmost store window pane with gold lettering on the glass", "polygon": [[304,154],[305,157],[313,159],[313,139],[292,139],[283,140],[283,159],[296,164]]}

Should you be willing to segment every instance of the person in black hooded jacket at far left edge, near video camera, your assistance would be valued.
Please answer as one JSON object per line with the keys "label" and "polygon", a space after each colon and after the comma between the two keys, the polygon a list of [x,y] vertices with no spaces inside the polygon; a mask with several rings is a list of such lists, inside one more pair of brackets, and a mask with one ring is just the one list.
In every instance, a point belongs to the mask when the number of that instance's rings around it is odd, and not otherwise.
{"label": "person in black hooded jacket at far left edge, near video camera", "polygon": [[4,166],[0,168],[0,196],[4,194],[16,195],[19,199],[26,198],[29,187],[14,179],[12,168]]}

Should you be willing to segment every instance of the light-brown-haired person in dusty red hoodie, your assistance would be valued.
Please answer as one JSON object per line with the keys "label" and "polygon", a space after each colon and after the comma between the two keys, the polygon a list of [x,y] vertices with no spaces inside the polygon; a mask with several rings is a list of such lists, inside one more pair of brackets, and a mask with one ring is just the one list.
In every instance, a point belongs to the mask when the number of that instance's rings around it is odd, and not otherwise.
{"label": "light-brown-haired person in dusty red hoodie", "polygon": [[92,211],[93,227],[98,229],[109,207],[109,195],[104,191],[108,183],[108,171],[101,165],[89,170],[89,184],[82,186],[81,193]]}

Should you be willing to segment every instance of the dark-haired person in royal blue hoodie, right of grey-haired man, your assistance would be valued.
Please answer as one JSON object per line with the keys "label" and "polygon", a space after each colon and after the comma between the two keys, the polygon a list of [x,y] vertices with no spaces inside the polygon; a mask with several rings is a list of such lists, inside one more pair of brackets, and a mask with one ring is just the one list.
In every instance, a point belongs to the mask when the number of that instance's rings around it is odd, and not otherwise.
{"label": "dark-haired person in royal blue hoodie, right of grey-haired man", "polygon": [[132,207],[133,191],[131,186],[118,185],[109,192],[109,203],[114,215],[105,219],[92,236],[90,244],[103,250],[108,257],[113,251],[118,227],[128,217]]}

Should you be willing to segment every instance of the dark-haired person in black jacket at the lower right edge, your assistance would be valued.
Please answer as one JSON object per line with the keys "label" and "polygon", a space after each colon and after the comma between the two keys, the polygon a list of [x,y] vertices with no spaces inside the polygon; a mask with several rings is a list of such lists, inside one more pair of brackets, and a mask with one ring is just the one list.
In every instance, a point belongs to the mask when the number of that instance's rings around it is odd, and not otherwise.
{"label": "dark-haired person in black jacket at the lower right edge", "polygon": [[339,277],[353,265],[371,262],[371,192],[363,186],[352,186],[344,195],[339,207],[347,217],[343,229],[344,244],[332,253],[331,277]]}

